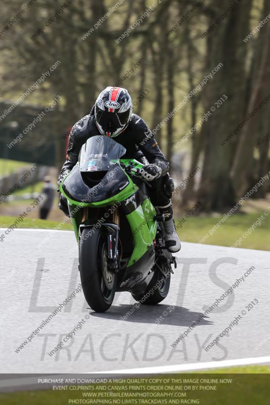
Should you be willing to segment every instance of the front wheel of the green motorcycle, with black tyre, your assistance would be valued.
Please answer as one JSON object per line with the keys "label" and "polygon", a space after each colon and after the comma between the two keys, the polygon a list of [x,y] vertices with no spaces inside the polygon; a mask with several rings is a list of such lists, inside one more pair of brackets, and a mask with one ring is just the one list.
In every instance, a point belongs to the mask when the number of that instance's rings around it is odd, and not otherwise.
{"label": "front wheel of the green motorcycle, with black tyre", "polygon": [[107,237],[100,228],[94,233],[91,228],[82,229],[79,263],[87,303],[96,312],[107,311],[114,298],[116,276],[108,268]]}

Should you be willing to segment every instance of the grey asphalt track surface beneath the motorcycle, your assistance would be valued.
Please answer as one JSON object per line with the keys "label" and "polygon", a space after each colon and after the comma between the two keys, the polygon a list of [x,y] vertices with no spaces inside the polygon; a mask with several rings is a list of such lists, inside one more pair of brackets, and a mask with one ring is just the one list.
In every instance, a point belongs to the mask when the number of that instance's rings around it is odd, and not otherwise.
{"label": "grey asphalt track surface beneath the motorcycle", "polygon": [[[253,359],[247,363],[266,362],[269,355],[270,252],[183,243],[161,304],[141,305],[127,316],[135,301],[129,293],[117,293],[110,310],[100,314],[79,292],[29,341],[80,284],[75,237],[69,231],[15,229],[0,247],[1,373],[169,372],[245,363],[246,358]],[[217,299],[218,306],[202,317]],[[238,325],[235,321],[205,350],[239,315]],[[79,322],[82,328],[74,330]],[[194,322],[197,326],[172,347]],[[72,330],[75,335],[50,356]]]}

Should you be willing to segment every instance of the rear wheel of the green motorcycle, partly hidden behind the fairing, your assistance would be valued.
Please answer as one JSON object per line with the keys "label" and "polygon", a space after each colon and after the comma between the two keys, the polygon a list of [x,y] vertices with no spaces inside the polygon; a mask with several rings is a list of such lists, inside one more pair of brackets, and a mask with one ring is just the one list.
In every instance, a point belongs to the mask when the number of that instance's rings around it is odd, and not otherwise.
{"label": "rear wheel of the green motorcycle, partly hidden behind the fairing", "polygon": [[133,295],[134,300],[146,305],[156,305],[163,301],[170,289],[171,273],[164,275],[158,268],[152,276],[144,294]]}

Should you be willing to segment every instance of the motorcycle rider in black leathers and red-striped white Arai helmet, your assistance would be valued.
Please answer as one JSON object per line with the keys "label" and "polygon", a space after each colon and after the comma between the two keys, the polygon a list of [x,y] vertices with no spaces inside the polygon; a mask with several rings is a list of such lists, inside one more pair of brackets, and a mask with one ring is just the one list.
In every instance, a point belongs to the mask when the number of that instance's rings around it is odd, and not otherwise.
{"label": "motorcycle rider in black leathers and red-striped white Arai helmet", "polygon": [[[78,162],[81,147],[88,138],[100,134],[115,138],[127,150],[123,158],[137,159],[145,165],[140,169],[140,176],[151,182],[150,200],[165,216],[166,248],[175,253],[180,250],[181,244],[173,221],[171,196],[174,184],[168,175],[169,163],[153,133],[140,116],[132,113],[132,109],[132,99],[126,89],[107,87],[99,94],[90,114],[81,118],[70,131],[66,161],[59,174],[58,185]],[[62,194],[59,208],[68,214],[67,201]]]}

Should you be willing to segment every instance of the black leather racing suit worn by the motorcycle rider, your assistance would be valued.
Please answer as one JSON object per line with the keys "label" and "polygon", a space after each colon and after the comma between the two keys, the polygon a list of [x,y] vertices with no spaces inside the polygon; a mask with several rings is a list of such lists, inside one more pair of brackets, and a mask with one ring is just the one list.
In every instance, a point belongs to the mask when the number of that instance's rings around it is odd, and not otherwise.
{"label": "black leather racing suit worn by the motorcycle rider", "polygon": [[[81,118],[71,129],[66,161],[59,178],[75,166],[83,144],[88,138],[95,135],[100,136],[100,132],[96,126],[94,108],[92,108],[91,113]],[[123,158],[135,158],[145,165],[149,162],[162,169],[161,177],[151,182],[149,196],[154,206],[167,206],[173,191],[173,182],[168,175],[169,163],[144,120],[138,115],[132,114],[126,130],[113,139],[126,148],[127,152]]]}

